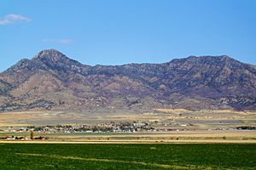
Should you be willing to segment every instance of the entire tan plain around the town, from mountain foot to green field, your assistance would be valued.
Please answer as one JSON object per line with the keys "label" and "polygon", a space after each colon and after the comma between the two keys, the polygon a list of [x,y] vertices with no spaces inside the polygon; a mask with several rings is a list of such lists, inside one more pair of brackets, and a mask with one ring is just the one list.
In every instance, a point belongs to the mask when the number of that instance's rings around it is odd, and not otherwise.
{"label": "entire tan plain around the town, from mountain foot to green field", "polygon": [[[19,142],[85,143],[256,143],[255,130],[235,130],[256,126],[256,111],[187,111],[155,109],[153,111],[20,111],[0,113],[0,137],[27,136],[8,132],[9,127],[75,125],[109,122],[149,122],[155,129],[172,128],[171,132],[138,133],[35,133],[48,140]],[[10,141],[2,141],[10,142]],[[17,142],[17,141],[12,141]]]}

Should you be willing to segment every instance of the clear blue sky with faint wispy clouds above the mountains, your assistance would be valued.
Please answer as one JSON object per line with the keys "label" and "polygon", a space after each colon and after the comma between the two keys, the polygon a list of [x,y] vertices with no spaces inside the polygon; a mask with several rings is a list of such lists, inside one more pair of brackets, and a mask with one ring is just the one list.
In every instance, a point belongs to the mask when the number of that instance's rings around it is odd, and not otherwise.
{"label": "clear blue sky with faint wispy clouds above the mountains", "polygon": [[86,65],[221,54],[256,65],[256,1],[1,0],[0,71],[47,48]]}

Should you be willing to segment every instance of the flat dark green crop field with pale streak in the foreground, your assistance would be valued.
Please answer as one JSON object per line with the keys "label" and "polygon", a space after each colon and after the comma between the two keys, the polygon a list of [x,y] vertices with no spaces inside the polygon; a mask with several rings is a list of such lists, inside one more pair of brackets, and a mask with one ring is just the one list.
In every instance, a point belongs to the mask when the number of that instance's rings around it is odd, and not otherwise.
{"label": "flat dark green crop field with pale streak in the foreground", "polygon": [[1,169],[256,169],[255,144],[0,144]]}

